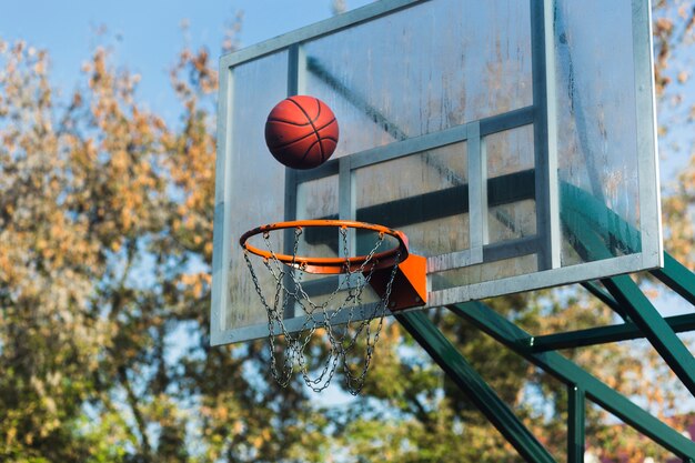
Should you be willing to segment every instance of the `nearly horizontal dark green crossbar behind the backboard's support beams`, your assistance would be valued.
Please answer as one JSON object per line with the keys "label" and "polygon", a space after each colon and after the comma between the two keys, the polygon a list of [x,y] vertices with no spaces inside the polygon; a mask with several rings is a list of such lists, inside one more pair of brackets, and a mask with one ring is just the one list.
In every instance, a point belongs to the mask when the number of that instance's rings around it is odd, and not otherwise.
{"label": "nearly horizontal dark green crossbar behind the backboard's support beams", "polygon": [[[695,330],[695,314],[667,316],[664,321],[676,333]],[[560,349],[606,344],[608,342],[628,341],[641,338],[644,338],[644,333],[637,328],[637,325],[629,322],[617,325],[546,334],[544,336],[534,336],[528,340],[528,344],[531,345],[531,350],[533,352],[546,352]]]}

